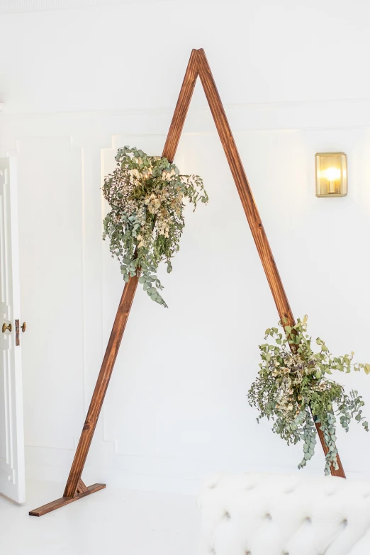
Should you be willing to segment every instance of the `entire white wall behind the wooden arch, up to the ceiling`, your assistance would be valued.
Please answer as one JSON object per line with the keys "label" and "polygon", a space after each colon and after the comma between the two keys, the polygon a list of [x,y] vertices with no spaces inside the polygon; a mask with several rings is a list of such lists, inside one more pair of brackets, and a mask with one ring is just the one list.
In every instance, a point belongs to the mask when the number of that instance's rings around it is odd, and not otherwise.
{"label": "entire white wall behind the wooden arch, up to the ceiling", "polygon": [[[15,11],[0,4],[0,153],[18,152],[28,476],[67,478],[123,288],[101,241],[102,177],[119,146],[162,152],[192,47],[208,55],[293,313],[370,361],[365,1],[3,4]],[[315,198],[325,150],[347,152],[346,198]],[[169,310],[138,290],[86,483],[190,493],[218,469],[296,471],[301,457],[247,404],[278,316],[201,86],[175,161],[203,176],[210,202],[186,214],[163,275]],[[339,379],[370,415],[370,376]],[[349,476],[369,474],[369,435],[354,425],[338,447]],[[305,471],[323,471],[320,449]]]}

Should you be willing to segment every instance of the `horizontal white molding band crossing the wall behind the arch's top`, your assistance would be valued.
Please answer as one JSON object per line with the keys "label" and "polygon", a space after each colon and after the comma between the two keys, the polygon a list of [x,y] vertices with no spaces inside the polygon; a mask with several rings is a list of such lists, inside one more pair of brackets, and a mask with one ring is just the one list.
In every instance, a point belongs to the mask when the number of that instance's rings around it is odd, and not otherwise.
{"label": "horizontal white molding band crossing the wall behind the arch's top", "polygon": [[[225,105],[225,111],[234,133],[370,126],[370,99],[229,104]],[[171,116],[172,108],[11,113],[4,104],[1,122],[4,137],[24,137],[32,130],[39,137],[73,135],[79,145],[91,142],[91,129],[94,129],[94,138],[99,138],[104,147],[109,145],[112,135],[120,135],[123,130],[127,137],[163,135],[165,138]],[[216,133],[208,107],[190,108],[184,133]]]}

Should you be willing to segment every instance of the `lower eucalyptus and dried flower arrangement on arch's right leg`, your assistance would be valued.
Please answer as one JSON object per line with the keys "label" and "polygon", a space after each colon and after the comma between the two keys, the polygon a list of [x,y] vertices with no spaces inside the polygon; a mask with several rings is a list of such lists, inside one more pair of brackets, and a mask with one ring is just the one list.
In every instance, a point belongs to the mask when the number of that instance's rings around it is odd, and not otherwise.
{"label": "lower eucalyptus and dried flower arrangement on arch's right leg", "polygon": [[332,371],[350,372],[364,369],[370,373],[370,364],[353,363],[354,353],[333,357],[325,342],[316,340],[318,352],[313,351],[311,337],[307,334],[307,316],[294,326],[271,327],[264,339],[272,338],[275,344],[259,345],[262,363],[259,376],[248,393],[251,406],[259,410],[257,422],[262,417],[274,421],[272,431],[289,444],[303,441],[301,469],[315,452],[316,427],[320,425],[325,444],[329,449],[325,461],[325,474],[331,465],[337,470],[335,427],[340,425],[348,431],[354,417],[369,431],[369,424],[362,416],[364,401],[358,391],[345,393],[344,388],[328,375]]}

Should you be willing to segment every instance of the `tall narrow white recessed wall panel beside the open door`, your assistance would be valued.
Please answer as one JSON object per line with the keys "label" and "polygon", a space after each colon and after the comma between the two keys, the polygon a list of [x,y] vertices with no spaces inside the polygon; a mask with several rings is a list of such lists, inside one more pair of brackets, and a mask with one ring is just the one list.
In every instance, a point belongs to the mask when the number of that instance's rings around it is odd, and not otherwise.
{"label": "tall narrow white recessed wall panel beside the open door", "polygon": [[19,138],[26,444],[73,449],[83,393],[82,150]]}

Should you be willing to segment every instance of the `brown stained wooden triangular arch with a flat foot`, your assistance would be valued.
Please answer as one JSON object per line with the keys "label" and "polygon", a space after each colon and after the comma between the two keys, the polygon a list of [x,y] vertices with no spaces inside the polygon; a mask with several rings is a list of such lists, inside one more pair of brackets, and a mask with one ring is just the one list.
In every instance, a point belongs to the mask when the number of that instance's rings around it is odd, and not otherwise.
{"label": "brown stained wooden triangular arch with a flat foot", "polygon": [[[287,325],[292,326],[295,322],[288,303],[288,298],[286,297],[284,286],[281,282],[269,241],[267,240],[267,235],[264,232],[264,227],[262,225],[261,218],[259,217],[257,206],[254,203],[252,192],[250,190],[250,184],[248,183],[247,176],[245,175],[242,161],[239,153],[237,152],[235,140],[232,137],[230,125],[228,124],[228,119],[226,118],[226,114],[203,49],[193,50],[191,52],[191,57],[186,69],[184,82],[181,86],[179,99],[176,103],[174,116],[169,128],[166,143],[164,145],[162,157],[166,157],[170,162],[173,162],[174,160],[177,145],[179,144],[186,114],[189,109],[189,104],[191,97],[193,96],[194,86],[198,76],[201,79],[201,84],[203,85],[204,92],[206,93],[213,120],[215,121],[215,126],[218,130],[218,135],[220,136],[226,158],[228,159],[230,170],[234,178],[235,185],[237,186],[237,191],[239,193],[240,200],[242,201],[242,206],[244,208],[245,215],[247,216],[262,266],[264,267],[264,271],[267,276],[267,281],[269,281],[269,286],[271,288],[272,296],[274,297],[279,317],[281,321],[285,318]],[[91,398],[88,413],[86,415],[84,427],[82,428],[77,451],[74,455],[74,461],[69,472],[67,485],[65,486],[65,493],[62,498],[30,511],[30,515],[45,515],[47,512],[60,508],[63,505],[67,505],[68,503],[72,503],[72,501],[84,497],[85,495],[89,495],[90,493],[94,493],[95,491],[105,488],[105,485],[101,483],[96,483],[94,486],[86,488],[81,476],[87,454],[89,453],[91,440],[94,436],[96,422],[98,421],[103,400],[106,395],[108,383],[111,379],[113,366],[116,361],[118,349],[123,337],[123,332],[125,331],[125,325],[128,320],[128,315],[130,314],[130,308],[133,303],[137,286],[138,277],[135,276],[130,278],[123,289],[111,337],[109,338],[108,346],[106,348],[106,354],[101,365],[98,380],[96,381],[96,386]],[[320,442],[326,454],[328,449],[325,445],[323,432],[320,430],[319,425],[316,425],[316,428],[318,430]],[[332,467],[331,473],[335,476],[342,476],[345,478],[339,456],[337,456],[337,461],[339,470],[335,471]]]}

